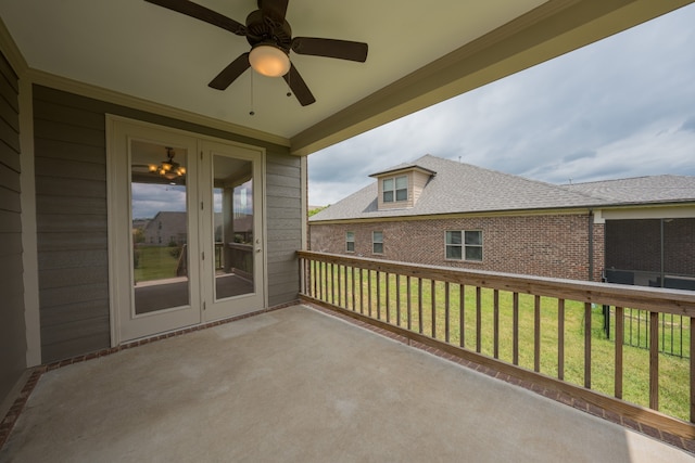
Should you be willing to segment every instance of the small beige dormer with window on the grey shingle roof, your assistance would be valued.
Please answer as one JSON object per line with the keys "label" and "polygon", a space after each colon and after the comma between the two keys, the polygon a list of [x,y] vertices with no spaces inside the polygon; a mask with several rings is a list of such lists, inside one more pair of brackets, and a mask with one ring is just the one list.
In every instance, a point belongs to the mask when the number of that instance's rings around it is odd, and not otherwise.
{"label": "small beige dormer with window on the grey shingle roof", "polygon": [[379,185],[378,208],[405,209],[415,206],[427,182],[437,172],[418,165],[400,166],[372,173]]}

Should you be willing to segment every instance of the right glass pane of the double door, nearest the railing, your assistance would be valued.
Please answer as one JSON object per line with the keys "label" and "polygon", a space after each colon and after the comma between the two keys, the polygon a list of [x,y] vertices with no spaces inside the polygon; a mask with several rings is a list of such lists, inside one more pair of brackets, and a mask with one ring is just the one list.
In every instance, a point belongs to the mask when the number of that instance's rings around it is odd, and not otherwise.
{"label": "right glass pane of the double door, nearest the railing", "polygon": [[213,156],[215,300],[254,292],[250,160]]}

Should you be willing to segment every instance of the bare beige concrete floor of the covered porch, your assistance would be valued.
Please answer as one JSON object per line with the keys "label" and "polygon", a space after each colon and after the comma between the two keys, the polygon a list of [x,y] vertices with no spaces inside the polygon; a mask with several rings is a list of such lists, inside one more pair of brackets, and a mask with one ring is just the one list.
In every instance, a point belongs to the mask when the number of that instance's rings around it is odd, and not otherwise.
{"label": "bare beige concrete floor of the covered porch", "polygon": [[45,373],[2,462],[685,462],[693,455],[312,308]]}

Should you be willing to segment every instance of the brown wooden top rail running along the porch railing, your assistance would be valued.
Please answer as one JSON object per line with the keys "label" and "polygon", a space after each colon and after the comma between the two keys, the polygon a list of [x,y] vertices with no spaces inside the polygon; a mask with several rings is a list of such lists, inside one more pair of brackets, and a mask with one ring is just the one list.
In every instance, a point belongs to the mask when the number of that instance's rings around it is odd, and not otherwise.
{"label": "brown wooden top rail running along the porch railing", "polygon": [[397,273],[405,276],[695,317],[695,292],[692,291],[396,262],[312,250],[298,250],[298,256],[327,263]]}

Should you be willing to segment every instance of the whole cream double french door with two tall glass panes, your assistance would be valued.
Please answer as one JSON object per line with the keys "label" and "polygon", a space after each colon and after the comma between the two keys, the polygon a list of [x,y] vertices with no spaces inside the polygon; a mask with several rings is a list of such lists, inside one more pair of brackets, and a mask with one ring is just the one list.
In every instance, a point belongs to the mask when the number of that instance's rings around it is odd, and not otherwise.
{"label": "whole cream double french door with two tall glass panes", "polygon": [[263,308],[263,152],[109,127],[113,344]]}

